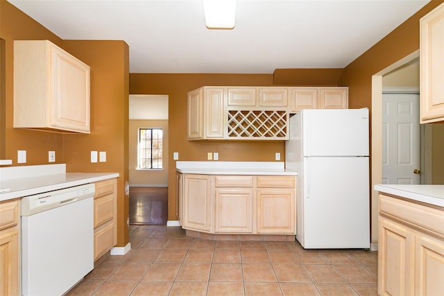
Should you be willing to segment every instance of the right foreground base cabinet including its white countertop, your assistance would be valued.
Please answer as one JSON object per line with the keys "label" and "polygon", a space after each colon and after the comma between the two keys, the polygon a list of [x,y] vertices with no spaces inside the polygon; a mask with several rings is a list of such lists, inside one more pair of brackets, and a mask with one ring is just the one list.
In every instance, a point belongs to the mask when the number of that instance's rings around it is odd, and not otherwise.
{"label": "right foreground base cabinet including its white countertop", "polygon": [[442,295],[444,185],[379,191],[378,295]]}

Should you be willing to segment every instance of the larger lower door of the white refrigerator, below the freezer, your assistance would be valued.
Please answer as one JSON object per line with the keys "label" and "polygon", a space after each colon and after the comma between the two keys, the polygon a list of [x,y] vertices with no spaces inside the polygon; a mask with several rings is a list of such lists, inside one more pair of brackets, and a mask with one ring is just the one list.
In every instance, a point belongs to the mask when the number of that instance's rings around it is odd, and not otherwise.
{"label": "larger lower door of the white refrigerator, below the freezer", "polygon": [[369,248],[368,157],[304,157],[303,163],[302,247]]}

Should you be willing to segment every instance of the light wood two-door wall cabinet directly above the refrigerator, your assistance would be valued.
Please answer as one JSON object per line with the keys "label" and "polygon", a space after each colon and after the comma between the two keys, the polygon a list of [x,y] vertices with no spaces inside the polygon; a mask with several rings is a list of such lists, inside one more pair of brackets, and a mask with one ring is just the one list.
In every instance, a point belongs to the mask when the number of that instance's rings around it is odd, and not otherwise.
{"label": "light wood two-door wall cabinet directly above the refrigerator", "polygon": [[291,87],[290,112],[304,109],[347,109],[348,87]]}

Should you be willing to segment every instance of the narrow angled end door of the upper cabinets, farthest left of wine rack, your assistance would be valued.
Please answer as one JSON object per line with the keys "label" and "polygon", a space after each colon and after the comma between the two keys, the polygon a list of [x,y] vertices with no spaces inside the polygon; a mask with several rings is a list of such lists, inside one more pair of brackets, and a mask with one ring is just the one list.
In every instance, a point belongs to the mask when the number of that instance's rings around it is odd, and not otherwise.
{"label": "narrow angled end door of the upper cabinets, farthest left of wine rack", "polygon": [[203,88],[188,93],[187,134],[189,140],[203,138]]}

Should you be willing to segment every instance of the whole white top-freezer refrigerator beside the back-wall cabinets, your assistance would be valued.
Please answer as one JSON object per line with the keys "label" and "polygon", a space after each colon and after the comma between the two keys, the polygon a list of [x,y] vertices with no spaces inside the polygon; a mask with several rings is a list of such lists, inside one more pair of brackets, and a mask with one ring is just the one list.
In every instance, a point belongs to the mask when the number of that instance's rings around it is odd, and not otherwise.
{"label": "whole white top-freezer refrigerator beside the back-wall cabinets", "polygon": [[369,248],[368,109],[302,110],[289,128],[296,239],[305,249]]}

